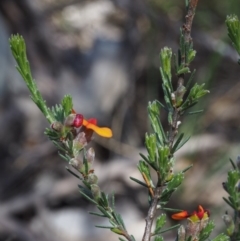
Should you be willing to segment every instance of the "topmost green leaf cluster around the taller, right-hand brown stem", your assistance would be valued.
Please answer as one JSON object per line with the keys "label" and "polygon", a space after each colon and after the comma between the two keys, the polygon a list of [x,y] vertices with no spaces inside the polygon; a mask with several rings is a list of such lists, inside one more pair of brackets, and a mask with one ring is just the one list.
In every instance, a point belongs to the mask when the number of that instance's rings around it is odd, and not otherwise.
{"label": "topmost green leaf cluster around the taller, right-hand brown stem", "polygon": [[[183,41],[183,38],[181,38],[181,41]],[[180,42],[181,42],[180,41]],[[182,47],[183,48],[183,47]],[[174,117],[173,113],[174,110],[177,109],[179,114],[182,115],[187,109],[191,108],[192,106],[196,105],[201,97],[209,93],[208,90],[204,89],[204,84],[197,84],[195,83],[194,86],[191,88],[191,83],[194,78],[195,70],[191,73],[188,64],[193,60],[195,57],[195,51],[191,48],[187,48],[188,50],[180,49],[179,50],[179,59],[178,64],[176,64],[176,76],[178,77],[178,87],[174,91],[172,86],[172,50],[170,48],[163,48],[160,53],[160,59],[162,66],[160,67],[160,73],[163,79],[163,92],[164,92],[164,100],[166,103],[166,107],[161,104],[161,106],[168,111],[168,121],[170,124],[173,124]],[[182,51],[187,51],[188,55],[191,56],[190,59],[188,58],[181,58]],[[193,54],[194,52],[194,54]],[[186,56],[188,56],[186,55]],[[187,60],[187,62],[185,62]],[[190,62],[189,62],[190,61]],[[181,65],[179,66],[179,63]],[[185,66],[185,67],[183,67]],[[180,69],[179,69],[180,68]],[[189,76],[189,79],[184,85],[184,74],[191,73]],[[185,97],[186,92],[188,92],[188,95]]]}

